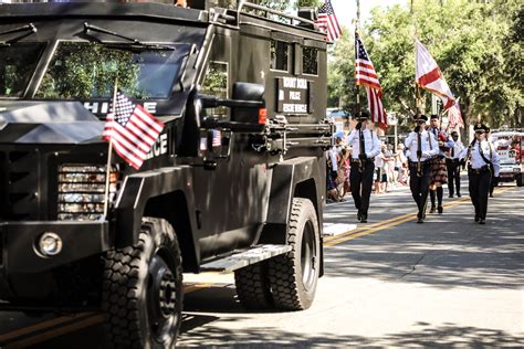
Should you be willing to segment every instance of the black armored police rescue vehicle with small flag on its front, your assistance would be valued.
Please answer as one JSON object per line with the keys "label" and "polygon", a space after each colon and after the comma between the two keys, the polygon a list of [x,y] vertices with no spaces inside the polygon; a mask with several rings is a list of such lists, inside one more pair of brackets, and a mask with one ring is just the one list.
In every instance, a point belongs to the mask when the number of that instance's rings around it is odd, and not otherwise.
{"label": "black armored police rescue vehicle with small flag on its front", "polygon": [[[182,273],[308,308],[334,129],[314,11],[23,2],[0,4],[0,309],[102,309],[113,346],[163,348]],[[101,139],[116,81],[165,125],[138,170]]]}

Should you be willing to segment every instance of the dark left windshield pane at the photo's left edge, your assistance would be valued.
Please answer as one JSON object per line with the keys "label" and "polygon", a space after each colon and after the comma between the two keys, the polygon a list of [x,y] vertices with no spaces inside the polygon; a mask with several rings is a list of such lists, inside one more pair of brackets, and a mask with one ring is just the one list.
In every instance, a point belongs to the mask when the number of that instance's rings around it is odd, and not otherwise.
{"label": "dark left windshield pane at the photo's left edge", "polygon": [[33,76],[45,44],[0,46],[0,97],[21,97]]}

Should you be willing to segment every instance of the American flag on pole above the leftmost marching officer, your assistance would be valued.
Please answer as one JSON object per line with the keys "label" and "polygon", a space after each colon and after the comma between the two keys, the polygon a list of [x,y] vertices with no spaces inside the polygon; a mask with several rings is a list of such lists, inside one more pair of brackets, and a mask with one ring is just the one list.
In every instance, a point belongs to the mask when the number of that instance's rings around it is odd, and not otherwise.
{"label": "American flag on pole above the leftmost marching officer", "polygon": [[382,87],[357,32],[355,32],[355,84],[366,87],[371,120],[384,128],[388,125],[388,116],[382,105]]}

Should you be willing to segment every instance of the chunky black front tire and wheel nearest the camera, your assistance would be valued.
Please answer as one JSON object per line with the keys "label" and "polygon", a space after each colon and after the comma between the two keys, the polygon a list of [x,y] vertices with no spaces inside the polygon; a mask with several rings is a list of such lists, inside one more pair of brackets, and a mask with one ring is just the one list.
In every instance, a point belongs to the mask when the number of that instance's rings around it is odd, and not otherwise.
{"label": "chunky black front tire and wheel nearest the camera", "polygon": [[107,252],[102,308],[114,348],[174,348],[182,311],[181,254],[172,226],[143,219],[134,246]]}

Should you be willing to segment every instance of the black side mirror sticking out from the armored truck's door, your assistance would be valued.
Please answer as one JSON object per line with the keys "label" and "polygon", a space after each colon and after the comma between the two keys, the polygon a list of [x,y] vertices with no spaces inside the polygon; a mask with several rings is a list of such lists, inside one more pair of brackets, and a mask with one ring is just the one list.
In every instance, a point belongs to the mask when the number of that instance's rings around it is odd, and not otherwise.
{"label": "black side mirror sticking out from the armored truck's door", "polygon": [[258,106],[235,106],[231,109],[231,121],[245,124],[265,124],[261,120],[261,109],[265,107],[265,87],[261,84],[234,83],[233,99],[258,102]]}

